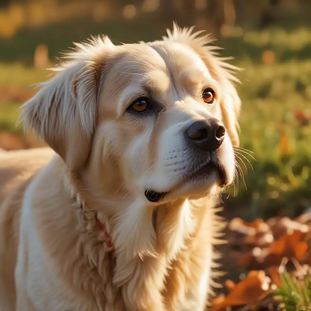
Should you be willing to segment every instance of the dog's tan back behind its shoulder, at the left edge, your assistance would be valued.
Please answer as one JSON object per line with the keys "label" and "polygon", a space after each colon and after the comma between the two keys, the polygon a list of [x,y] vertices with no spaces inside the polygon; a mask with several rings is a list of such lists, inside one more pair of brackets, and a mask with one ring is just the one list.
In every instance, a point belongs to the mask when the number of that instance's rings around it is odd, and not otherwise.
{"label": "dog's tan back behind its shoulder, at the left edge", "polygon": [[54,152],[49,148],[0,151],[0,309],[14,310],[14,270],[25,190]]}

